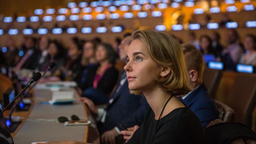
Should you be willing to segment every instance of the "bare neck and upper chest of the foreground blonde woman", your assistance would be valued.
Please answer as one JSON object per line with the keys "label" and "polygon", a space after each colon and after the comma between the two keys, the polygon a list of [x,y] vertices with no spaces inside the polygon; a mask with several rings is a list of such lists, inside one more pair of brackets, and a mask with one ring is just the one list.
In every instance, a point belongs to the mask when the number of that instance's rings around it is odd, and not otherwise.
{"label": "bare neck and upper chest of the foreground blonde woman", "polygon": [[[161,111],[163,110],[163,107],[167,102],[167,100],[170,98],[171,94],[167,93],[160,87],[156,87],[155,89],[149,89],[147,91],[142,91],[142,93],[147,99],[149,106],[153,110],[155,114],[155,119],[158,120],[161,114]],[[161,118],[179,107],[184,107],[184,105],[175,96],[173,96],[173,98],[170,99],[170,101],[167,103],[166,107],[164,108]]]}

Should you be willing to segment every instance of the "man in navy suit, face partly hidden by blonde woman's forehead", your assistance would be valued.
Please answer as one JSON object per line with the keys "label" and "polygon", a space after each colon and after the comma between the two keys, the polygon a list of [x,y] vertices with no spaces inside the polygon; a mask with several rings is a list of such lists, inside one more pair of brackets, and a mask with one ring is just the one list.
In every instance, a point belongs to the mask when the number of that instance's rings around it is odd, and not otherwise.
{"label": "man in navy suit, face partly hidden by blonde woman's forehead", "polygon": [[[123,62],[126,60],[126,51],[131,43],[131,36],[125,34],[125,38],[119,45],[119,57]],[[97,117],[98,130],[102,143],[115,143],[116,137],[123,130],[118,123],[125,127],[141,125],[149,105],[144,96],[131,94],[128,88],[126,72],[122,73],[117,87],[107,104],[107,108],[97,108],[95,104],[87,98],[80,98],[90,111]]]}

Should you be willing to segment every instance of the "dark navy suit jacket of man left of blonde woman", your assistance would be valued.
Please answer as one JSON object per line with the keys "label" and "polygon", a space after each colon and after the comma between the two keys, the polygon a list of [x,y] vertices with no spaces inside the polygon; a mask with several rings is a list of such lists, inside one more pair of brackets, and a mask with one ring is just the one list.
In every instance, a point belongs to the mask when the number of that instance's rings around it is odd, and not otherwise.
{"label": "dark navy suit jacket of man left of blonde woman", "polygon": [[[121,123],[126,128],[134,125],[141,125],[142,120],[149,109],[149,104],[144,96],[130,94],[128,81],[126,80],[121,89],[117,92],[120,86],[118,82],[117,88],[112,95],[112,103],[107,106],[107,115],[104,123],[98,123],[100,134],[118,127]],[[118,127],[119,130],[123,130]]]}

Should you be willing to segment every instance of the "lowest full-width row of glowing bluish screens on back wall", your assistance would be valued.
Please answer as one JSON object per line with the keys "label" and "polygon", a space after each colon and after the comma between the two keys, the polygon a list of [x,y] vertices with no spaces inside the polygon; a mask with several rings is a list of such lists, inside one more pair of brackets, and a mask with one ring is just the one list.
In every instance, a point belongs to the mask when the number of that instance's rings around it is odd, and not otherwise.
{"label": "lowest full-width row of glowing bluish screens on back wall", "polygon": [[[219,24],[214,22],[214,23],[208,23],[206,26],[208,29],[218,29]],[[237,22],[227,22],[226,27],[229,29],[232,28],[237,28],[238,23]],[[246,22],[246,27],[256,27],[256,21],[247,21]],[[201,28],[200,24],[189,24],[189,29],[190,30],[199,30]],[[166,26],[165,25],[157,25],[155,26],[155,29],[157,31],[166,31]],[[172,26],[173,31],[181,31],[183,30],[183,26],[181,24],[175,24]],[[112,33],[121,33],[123,31],[123,28],[121,26],[113,26],[111,27]],[[54,28],[52,29],[52,34],[62,34],[63,30],[62,28]],[[67,28],[66,31],[68,34],[76,34],[78,32],[78,29],[75,27],[69,27]],[[96,28],[97,33],[106,33],[107,32],[107,27],[97,27]],[[3,35],[4,31],[3,29],[0,29],[0,35]],[[18,29],[9,29],[8,34],[9,35],[17,35],[19,33]],[[33,34],[34,31],[33,29],[23,29],[22,33],[24,35],[30,35]],[[47,34],[48,29],[46,28],[40,28],[37,30],[38,34]],[[81,33],[88,34],[92,33],[92,27],[83,27],[81,29]]]}

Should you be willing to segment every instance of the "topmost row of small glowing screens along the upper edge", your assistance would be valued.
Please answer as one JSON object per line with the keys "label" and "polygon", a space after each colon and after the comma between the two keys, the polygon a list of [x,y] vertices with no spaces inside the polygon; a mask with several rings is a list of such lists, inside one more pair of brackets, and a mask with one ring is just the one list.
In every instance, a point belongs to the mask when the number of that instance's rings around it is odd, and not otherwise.
{"label": "topmost row of small glowing screens along the upper edge", "polygon": [[[121,5],[133,5],[135,4],[136,0],[99,0],[95,2],[90,3],[90,7],[99,7],[99,6],[104,6],[104,7],[109,7],[111,5],[114,6],[121,6]],[[173,2],[182,2],[183,0],[173,0]],[[187,0],[188,2],[193,2],[194,0]],[[170,0],[137,0],[137,4],[139,5],[144,5],[146,3],[150,4],[156,4],[156,3],[169,3]],[[250,0],[240,0],[241,3],[248,3]],[[226,4],[234,4],[235,0],[225,0]],[[80,8],[84,8],[88,6],[87,2],[80,2],[78,5]],[[70,2],[67,4],[68,8],[75,8],[77,7],[77,4],[75,2]]]}

